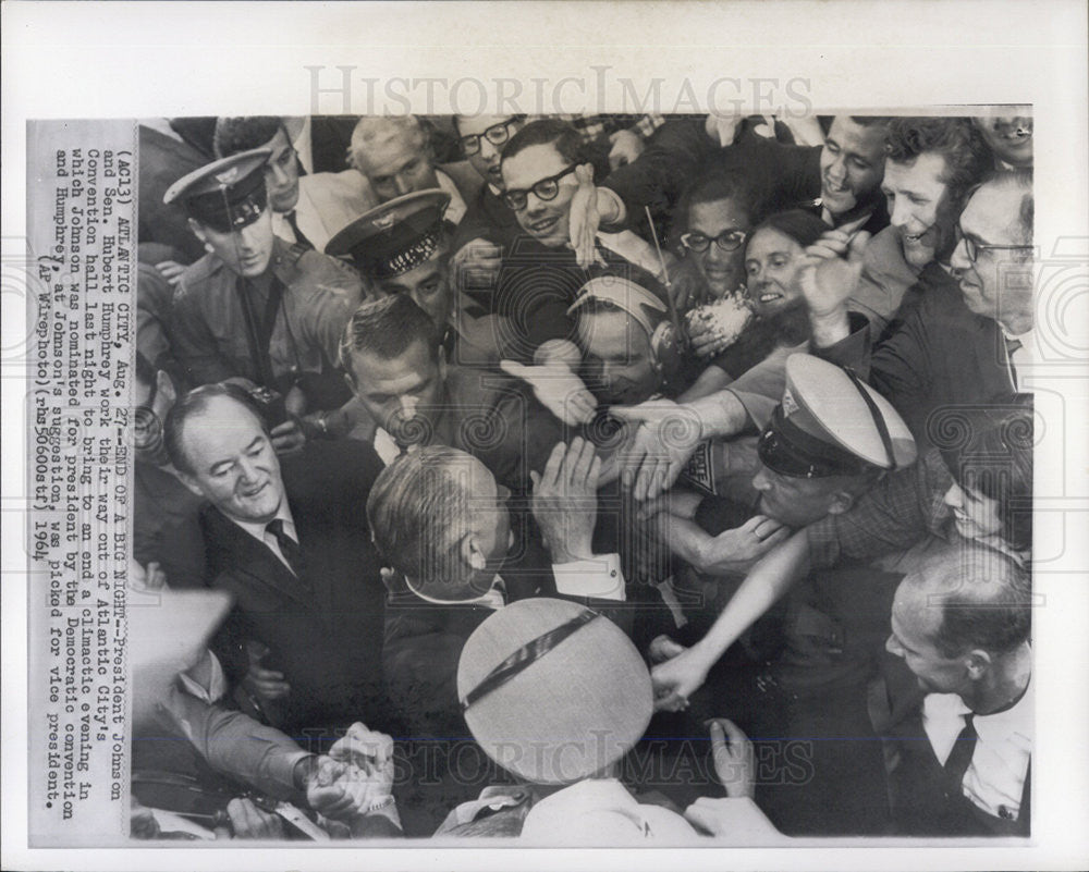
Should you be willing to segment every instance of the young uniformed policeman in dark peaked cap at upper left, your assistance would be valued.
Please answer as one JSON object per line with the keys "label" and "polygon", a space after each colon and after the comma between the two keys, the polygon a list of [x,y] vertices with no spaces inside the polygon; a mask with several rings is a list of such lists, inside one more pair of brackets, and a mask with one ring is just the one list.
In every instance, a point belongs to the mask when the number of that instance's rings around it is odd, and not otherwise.
{"label": "young uniformed policeman in dark peaked cap at upper left", "polygon": [[[282,396],[289,416],[313,420],[347,400],[337,348],[362,288],[344,265],[273,235],[270,153],[223,158],[167,192],[208,249],[174,294],[174,353],[192,384],[246,380]],[[297,422],[276,423],[284,429],[274,437],[298,441]]]}

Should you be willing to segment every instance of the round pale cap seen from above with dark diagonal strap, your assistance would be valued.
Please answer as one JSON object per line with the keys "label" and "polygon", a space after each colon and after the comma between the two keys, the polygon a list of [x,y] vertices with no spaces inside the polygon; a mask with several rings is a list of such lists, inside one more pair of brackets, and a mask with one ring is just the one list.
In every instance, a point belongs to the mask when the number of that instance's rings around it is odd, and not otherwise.
{"label": "round pale cap seen from above with dark diagonal strap", "polygon": [[650,673],[609,618],[536,597],[490,615],[457,663],[465,723],[499,765],[570,784],[620,760],[653,711]]}

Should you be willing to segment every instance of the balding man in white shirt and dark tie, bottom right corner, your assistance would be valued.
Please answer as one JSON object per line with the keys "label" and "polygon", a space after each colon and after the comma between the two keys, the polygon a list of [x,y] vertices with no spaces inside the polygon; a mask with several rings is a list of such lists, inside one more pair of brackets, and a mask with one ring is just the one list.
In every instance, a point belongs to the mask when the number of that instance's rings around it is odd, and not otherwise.
{"label": "balding man in white shirt and dark tie, bottom right corner", "polygon": [[989,550],[943,552],[897,589],[888,650],[927,695],[893,732],[905,834],[1029,835],[1031,605],[1027,574]]}

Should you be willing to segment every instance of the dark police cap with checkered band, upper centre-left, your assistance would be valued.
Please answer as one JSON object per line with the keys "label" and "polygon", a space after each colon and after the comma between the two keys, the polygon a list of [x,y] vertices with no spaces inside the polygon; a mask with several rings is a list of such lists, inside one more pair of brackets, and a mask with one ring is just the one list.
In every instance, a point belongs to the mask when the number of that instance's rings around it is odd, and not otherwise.
{"label": "dark police cap with checkered band, upper centre-left", "polygon": [[439,188],[405,194],[365,212],[326,245],[326,254],[351,255],[359,272],[391,279],[429,260],[442,238],[450,195]]}

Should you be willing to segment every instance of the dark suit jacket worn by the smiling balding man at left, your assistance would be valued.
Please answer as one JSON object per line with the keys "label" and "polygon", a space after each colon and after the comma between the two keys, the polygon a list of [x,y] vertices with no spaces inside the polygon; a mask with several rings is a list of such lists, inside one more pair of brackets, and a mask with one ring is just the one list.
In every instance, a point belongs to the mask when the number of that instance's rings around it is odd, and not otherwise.
{"label": "dark suit jacket worn by the smiling balding man at left", "polygon": [[363,443],[316,442],[281,469],[303,554],[298,577],[218,509],[203,512],[211,586],[235,599],[217,653],[240,679],[246,639],[271,649],[265,665],[292,686],[283,729],[358,720],[389,732],[396,725],[381,689],[384,588],[365,512],[381,462]]}

